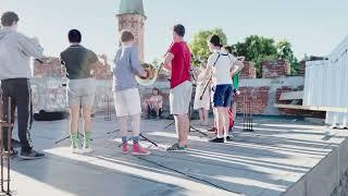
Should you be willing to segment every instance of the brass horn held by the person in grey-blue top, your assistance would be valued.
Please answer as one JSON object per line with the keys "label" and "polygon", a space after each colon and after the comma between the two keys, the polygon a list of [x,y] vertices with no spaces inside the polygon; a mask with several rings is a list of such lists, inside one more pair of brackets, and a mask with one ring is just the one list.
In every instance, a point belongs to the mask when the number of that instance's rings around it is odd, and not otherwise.
{"label": "brass horn held by the person in grey-blue top", "polygon": [[136,75],[135,79],[141,86],[152,86],[159,76],[159,73],[163,66],[163,63],[161,63],[159,65],[142,63],[141,66],[144,68],[144,70],[146,72],[148,72],[148,76],[147,77],[139,77],[138,75]]}

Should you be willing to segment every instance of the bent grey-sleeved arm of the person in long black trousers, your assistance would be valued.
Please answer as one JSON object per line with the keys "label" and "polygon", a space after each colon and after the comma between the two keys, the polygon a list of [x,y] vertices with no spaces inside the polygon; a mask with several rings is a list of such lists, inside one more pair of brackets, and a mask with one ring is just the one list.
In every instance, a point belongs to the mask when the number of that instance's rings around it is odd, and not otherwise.
{"label": "bent grey-sleeved arm of the person in long black trousers", "polygon": [[37,38],[28,38],[25,35],[18,34],[18,48],[25,54],[41,59],[44,56],[44,48],[39,45]]}

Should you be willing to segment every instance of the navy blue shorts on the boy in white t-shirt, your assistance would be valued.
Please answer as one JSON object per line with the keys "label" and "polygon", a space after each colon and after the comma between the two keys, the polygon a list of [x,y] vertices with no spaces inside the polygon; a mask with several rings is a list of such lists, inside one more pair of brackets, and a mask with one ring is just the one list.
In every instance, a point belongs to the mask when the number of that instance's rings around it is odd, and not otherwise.
{"label": "navy blue shorts on the boy in white t-shirt", "polygon": [[233,86],[229,84],[226,85],[216,85],[213,97],[213,106],[231,108],[233,101]]}

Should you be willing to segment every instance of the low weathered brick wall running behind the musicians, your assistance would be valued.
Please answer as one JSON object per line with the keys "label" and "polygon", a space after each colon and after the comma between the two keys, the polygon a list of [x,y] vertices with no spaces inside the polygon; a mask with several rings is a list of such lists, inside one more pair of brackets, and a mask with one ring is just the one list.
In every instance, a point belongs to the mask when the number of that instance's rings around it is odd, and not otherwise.
{"label": "low weathered brick wall running behind the musicians", "polygon": [[[47,111],[61,111],[67,110],[65,87],[62,86],[64,78],[61,77],[62,73],[57,58],[44,59],[44,64],[36,63],[35,74],[33,78],[33,102],[35,111],[45,109]],[[270,64],[270,63],[268,63]],[[97,91],[94,105],[95,112],[105,111],[109,102],[111,111],[113,109],[113,97],[111,90],[111,75],[109,68],[102,64],[97,64],[95,68],[97,74]],[[274,70],[274,69],[273,69]],[[281,73],[284,73],[283,71]],[[238,101],[238,113],[245,110],[244,99],[250,102],[251,111],[253,114],[285,114],[285,115],[310,115],[310,117],[324,117],[325,112],[302,111],[291,109],[277,109],[274,103],[289,103],[289,101],[279,101],[279,96],[284,91],[302,90],[304,77],[303,76],[289,76],[276,78],[254,78],[256,72],[252,63],[246,62],[243,70],[243,77],[240,79],[240,96]],[[281,75],[277,73],[277,75]],[[170,82],[167,81],[167,73],[161,72],[154,87],[161,90],[163,96],[163,110],[165,115],[170,110],[169,91]],[[141,101],[151,96],[152,87],[139,86]],[[142,106],[144,115],[146,115],[146,107]]]}

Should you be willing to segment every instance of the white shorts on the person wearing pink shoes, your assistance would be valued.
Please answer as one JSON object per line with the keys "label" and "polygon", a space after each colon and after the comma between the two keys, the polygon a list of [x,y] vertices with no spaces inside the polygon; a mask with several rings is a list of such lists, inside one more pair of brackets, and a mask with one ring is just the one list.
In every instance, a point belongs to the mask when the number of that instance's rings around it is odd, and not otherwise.
{"label": "white shorts on the person wearing pink shoes", "polygon": [[141,113],[138,88],[114,91],[113,100],[117,117],[135,115]]}

